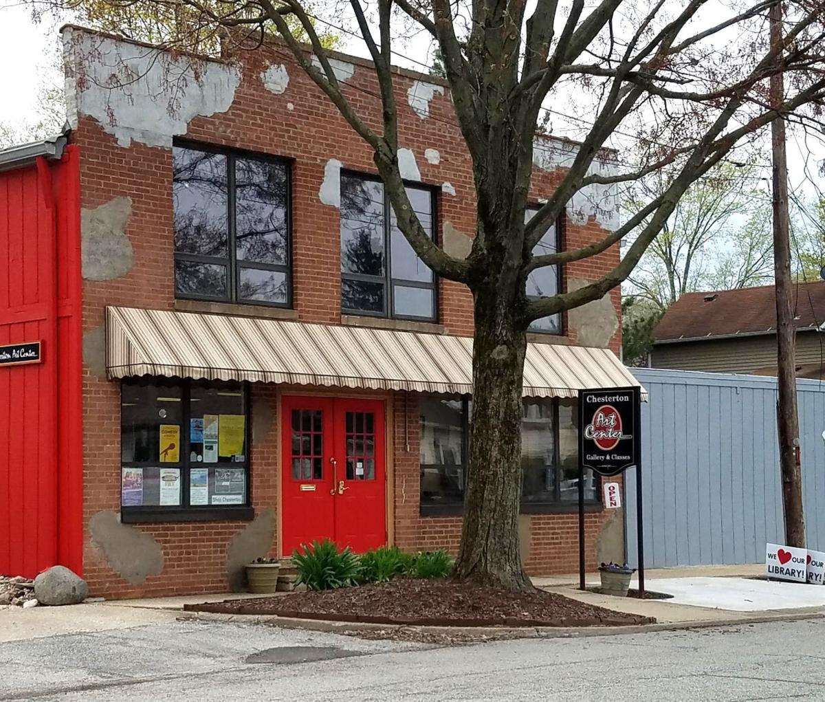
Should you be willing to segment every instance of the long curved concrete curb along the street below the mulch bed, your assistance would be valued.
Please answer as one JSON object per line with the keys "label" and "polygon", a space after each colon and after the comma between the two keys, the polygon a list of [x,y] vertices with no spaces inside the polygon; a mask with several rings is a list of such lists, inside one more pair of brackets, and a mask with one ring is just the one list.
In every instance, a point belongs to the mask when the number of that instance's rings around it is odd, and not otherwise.
{"label": "long curved concrete curb along the street below the mulch bed", "polygon": [[303,620],[293,617],[273,615],[224,615],[214,612],[181,612],[178,620],[218,621],[237,624],[262,624],[281,629],[305,629],[332,634],[366,634],[376,631],[406,631],[417,634],[455,636],[456,638],[587,638],[591,636],[618,636],[620,634],[647,634],[657,631],[683,631],[688,629],[715,629],[741,626],[742,624],[766,624],[773,621],[801,621],[825,618],[825,610],[780,611],[753,616],[729,617],[722,620],[691,620],[685,622],[658,622],[657,624],[629,624],[623,626],[592,627],[464,627],[464,626],[418,626],[415,624],[373,624],[352,623],[332,620]]}

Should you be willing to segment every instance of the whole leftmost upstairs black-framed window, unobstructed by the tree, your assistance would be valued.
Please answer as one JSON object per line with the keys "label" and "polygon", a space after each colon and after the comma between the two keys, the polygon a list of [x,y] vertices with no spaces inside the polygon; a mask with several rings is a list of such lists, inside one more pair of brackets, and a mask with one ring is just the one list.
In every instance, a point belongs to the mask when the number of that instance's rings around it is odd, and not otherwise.
{"label": "whole leftmost upstairs black-framed window, unobstructed by the tree", "polygon": [[177,297],[289,306],[288,163],[176,145],[172,169]]}

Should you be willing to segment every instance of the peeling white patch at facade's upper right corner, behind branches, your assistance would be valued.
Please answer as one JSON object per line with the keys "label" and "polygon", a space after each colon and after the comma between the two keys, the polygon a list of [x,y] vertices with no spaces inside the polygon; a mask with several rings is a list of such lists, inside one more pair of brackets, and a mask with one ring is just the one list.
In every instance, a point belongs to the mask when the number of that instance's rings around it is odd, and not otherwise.
{"label": "peeling white patch at facade's upper right corner, behind branches", "polygon": [[[544,171],[568,168],[577,155],[575,144],[559,139],[542,137],[533,143],[533,163]],[[615,173],[615,163],[605,159],[594,159],[587,169],[587,175],[610,176]],[[567,204],[567,213],[575,224],[587,224],[593,217],[603,229],[612,231],[619,227],[618,186],[592,185],[577,191]]]}

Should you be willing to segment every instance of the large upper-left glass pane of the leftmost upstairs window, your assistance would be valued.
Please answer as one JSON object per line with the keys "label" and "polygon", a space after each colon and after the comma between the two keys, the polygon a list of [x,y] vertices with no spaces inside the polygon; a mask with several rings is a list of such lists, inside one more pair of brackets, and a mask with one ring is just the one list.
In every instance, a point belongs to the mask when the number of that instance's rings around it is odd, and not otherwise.
{"label": "large upper-left glass pane of the leftmost upstairs window", "polygon": [[221,153],[172,148],[176,252],[227,255],[226,171]]}

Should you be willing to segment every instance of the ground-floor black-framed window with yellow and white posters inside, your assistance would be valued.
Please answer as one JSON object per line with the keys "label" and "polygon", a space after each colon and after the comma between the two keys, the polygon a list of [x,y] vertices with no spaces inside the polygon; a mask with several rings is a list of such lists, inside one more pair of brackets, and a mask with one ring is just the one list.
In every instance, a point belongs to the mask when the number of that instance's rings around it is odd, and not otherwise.
{"label": "ground-floor black-framed window with yellow and white posters inside", "polygon": [[249,505],[243,384],[137,379],[121,385],[125,521],[243,516]]}

